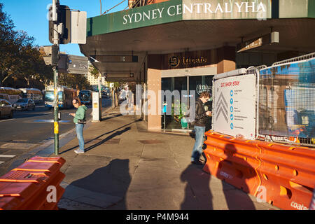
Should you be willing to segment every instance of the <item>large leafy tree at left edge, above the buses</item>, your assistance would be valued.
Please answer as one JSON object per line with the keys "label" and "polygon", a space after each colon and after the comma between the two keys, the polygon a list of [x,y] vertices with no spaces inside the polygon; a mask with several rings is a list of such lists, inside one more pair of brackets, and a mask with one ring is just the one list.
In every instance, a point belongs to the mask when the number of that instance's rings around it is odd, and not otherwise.
{"label": "large leafy tree at left edge, above the buses", "polygon": [[43,62],[34,37],[14,28],[0,3],[0,85],[43,88],[53,78],[52,68]]}

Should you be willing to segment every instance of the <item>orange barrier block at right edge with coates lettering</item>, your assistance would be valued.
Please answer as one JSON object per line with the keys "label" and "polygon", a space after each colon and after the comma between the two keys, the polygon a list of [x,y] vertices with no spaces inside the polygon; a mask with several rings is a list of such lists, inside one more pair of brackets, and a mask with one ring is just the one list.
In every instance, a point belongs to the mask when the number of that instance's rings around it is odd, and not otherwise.
{"label": "orange barrier block at right edge with coates lettering", "polygon": [[315,151],[306,147],[258,141],[258,173],[266,200],[281,209],[309,209],[315,186]]}

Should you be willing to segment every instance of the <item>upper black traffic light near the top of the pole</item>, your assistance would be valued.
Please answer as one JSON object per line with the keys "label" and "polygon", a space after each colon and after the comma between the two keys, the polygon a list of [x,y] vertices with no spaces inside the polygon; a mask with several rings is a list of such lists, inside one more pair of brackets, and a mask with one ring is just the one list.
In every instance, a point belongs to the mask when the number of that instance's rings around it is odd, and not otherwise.
{"label": "upper black traffic light near the top of the pole", "polygon": [[57,30],[54,30],[54,22],[52,21],[52,6],[49,8],[49,41],[54,43],[54,32],[58,31],[59,43],[66,44],[71,41],[71,11],[69,6],[59,5],[57,3]]}

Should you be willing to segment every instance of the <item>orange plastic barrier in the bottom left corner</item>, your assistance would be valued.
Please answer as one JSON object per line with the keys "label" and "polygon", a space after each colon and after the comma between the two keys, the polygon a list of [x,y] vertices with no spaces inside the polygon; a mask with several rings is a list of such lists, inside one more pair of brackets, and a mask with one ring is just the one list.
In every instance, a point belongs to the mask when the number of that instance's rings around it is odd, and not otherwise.
{"label": "orange plastic barrier in the bottom left corner", "polygon": [[[64,193],[63,158],[34,157],[0,177],[0,210],[52,210]],[[50,197],[50,193],[52,195]]]}

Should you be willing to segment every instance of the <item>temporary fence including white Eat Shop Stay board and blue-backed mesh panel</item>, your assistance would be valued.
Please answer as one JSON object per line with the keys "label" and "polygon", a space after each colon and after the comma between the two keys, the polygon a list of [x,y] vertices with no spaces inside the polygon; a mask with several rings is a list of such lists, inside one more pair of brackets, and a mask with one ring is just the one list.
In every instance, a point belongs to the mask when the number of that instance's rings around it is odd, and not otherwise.
{"label": "temporary fence including white Eat Shop Stay board and blue-backed mesh panel", "polygon": [[[258,75],[257,75],[258,74]],[[214,77],[214,105],[212,118],[213,130],[223,134],[235,136],[235,119],[239,115],[232,113],[232,103],[228,104],[229,91],[233,87],[226,88],[225,82],[251,79],[257,76],[255,90],[249,86],[243,86],[243,90],[248,94],[237,100],[238,106],[253,109],[255,104],[255,116],[253,113],[245,113],[244,118],[253,118],[243,120],[243,126],[239,129],[239,134],[249,139],[262,139],[265,141],[277,141],[290,144],[300,144],[304,146],[315,146],[315,53],[295,57],[293,59],[276,62],[272,66],[249,67],[248,69],[237,69],[227,73],[221,73]],[[243,80],[241,80],[242,82]],[[215,83],[221,83],[215,85]],[[259,84],[259,85],[258,85]],[[226,90],[227,89],[228,92]],[[221,96],[223,94],[223,96]],[[224,95],[226,94],[226,95]],[[254,99],[246,102],[246,98],[255,95]],[[222,103],[222,99],[224,104]],[[241,101],[243,101],[241,103]],[[231,110],[230,111],[230,106]],[[226,108],[226,109],[225,109]],[[223,113],[225,112],[225,113]],[[225,116],[224,116],[225,115]],[[225,118],[225,120],[221,118]],[[249,127],[255,123],[255,134],[252,137]],[[225,128],[225,126],[227,126]],[[240,125],[238,124],[238,127]]]}

